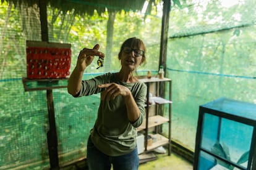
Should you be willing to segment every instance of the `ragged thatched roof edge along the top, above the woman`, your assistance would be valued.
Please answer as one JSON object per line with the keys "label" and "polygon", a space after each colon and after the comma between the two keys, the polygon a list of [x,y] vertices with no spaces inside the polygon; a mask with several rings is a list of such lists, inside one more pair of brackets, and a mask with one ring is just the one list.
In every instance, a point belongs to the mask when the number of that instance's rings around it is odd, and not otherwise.
{"label": "ragged thatched roof edge along the top, above the woman", "polygon": [[[12,2],[15,6],[22,3],[33,6],[38,4],[38,1],[43,0],[1,0],[1,2]],[[79,14],[93,14],[96,10],[99,14],[108,10],[142,10],[146,0],[45,0],[51,7],[61,9],[66,12],[67,10],[75,10]],[[152,1],[151,1],[152,2]]]}

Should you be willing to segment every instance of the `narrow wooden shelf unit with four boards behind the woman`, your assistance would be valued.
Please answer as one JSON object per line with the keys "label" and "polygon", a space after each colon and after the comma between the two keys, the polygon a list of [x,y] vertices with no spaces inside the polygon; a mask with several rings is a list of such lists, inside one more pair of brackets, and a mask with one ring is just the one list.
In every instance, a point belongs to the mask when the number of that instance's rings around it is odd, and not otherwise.
{"label": "narrow wooden shelf unit with four boards behind the woman", "polygon": [[[144,152],[154,150],[155,148],[161,147],[163,145],[168,145],[168,155],[171,155],[171,79],[168,78],[151,78],[151,79],[140,79],[143,83],[147,85],[147,100],[153,99],[153,104],[150,105],[148,102],[145,105],[145,119],[140,127],[137,128],[138,132],[144,132]],[[169,99],[164,99],[161,94],[164,94],[166,84],[169,83]],[[163,87],[163,88],[162,88]],[[153,92],[153,97],[150,97],[150,93]],[[161,105],[169,105],[168,118],[164,117]],[[155,111],[152,110],[155,108]],[[161,125],[168,123],[168,137],[164,137],[161,134]],[[149,130],[153,130],[153,136],[156,138],[151,145],[148,145]]]}

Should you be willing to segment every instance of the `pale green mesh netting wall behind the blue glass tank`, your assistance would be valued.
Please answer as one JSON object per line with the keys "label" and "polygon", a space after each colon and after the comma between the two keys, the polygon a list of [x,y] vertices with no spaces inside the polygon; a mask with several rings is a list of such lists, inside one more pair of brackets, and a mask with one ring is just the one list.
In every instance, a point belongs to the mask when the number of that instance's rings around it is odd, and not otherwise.
{"label": "pale green mesh netting wall behind the blue glass tank", "polygon": [[256,2],[198,1],[172,10],[168,77],[172,137],[194,150],[199,105],[220,97],[256,102]]}

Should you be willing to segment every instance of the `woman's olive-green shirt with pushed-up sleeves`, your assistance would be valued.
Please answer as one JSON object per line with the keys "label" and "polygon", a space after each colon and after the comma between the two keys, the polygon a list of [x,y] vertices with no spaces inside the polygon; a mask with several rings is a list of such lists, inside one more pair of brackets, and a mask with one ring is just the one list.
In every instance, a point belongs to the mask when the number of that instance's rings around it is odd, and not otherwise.
{"label": "woman's olive-green shirt with pushed-up sleeves", "polygon": [[114,100],[101,100],[98,108],[98,117],[91,130],[93,144],[109,156],[119,156],[131,152],[136,147],[136,127],[142,124],[144,118],[144,103],[147,86],[138,81],[125,83],[119,81],[114,73],[96,76],[82,81],[82,87],[77,97],[92,95],[101,92],[99,84],[117,83],[126,86],[132,92],[140,110],[140,117],[134,123],[127,118],[127,109],[124,97],[117,95]]}

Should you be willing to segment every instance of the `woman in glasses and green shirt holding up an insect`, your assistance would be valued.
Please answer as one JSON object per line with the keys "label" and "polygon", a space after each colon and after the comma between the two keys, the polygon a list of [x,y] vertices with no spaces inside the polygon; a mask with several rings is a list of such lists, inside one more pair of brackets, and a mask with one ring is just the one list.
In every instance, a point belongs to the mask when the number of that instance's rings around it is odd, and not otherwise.
{"label": "woman in glasses and green shirt holding up an insect", "polygon": [[[129,38],[121,46],[118,59],[121,70],[82,80],[84,70],[97,55],[103,66],[105,55],[93,49],[83,49],[70,75],[67,90],[74,97],[101,93],[98,117],[90,131],[87,144],[89,169],[138,169],[136,127],[143,122],[147,87],[134,76],[145,62],[145,45],[138,38]],[[100,63],[101,62],[101,63]]]}

